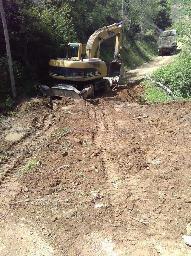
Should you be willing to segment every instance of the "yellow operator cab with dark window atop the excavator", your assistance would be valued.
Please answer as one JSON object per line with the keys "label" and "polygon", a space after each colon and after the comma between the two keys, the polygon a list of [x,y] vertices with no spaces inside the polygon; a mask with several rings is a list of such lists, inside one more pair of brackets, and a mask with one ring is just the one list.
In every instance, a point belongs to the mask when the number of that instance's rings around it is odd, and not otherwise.
{"label": "yellow operator cab with dark window atop the excavator", "polygon": [[81,54],[84,55],[86,51],[86,44],[82,43],[69,43],[67,57],[70,59],[81,59]]}

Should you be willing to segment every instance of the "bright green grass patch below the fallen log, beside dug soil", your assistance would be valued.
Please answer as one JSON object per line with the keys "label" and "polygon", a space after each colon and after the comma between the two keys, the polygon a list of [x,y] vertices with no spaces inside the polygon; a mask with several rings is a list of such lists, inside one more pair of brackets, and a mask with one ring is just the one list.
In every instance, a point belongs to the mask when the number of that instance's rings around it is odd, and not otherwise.
{"label": "bright green grass patch below the fallen log, beside dug soil", "polygon": [[150,103],[161,103],[168,102],[172,100],[172,96],[165,93],[162,88],[156,87],[152,82],[144,79],[142,82],[146,90],[144,92],[144,98],[147,98]]}

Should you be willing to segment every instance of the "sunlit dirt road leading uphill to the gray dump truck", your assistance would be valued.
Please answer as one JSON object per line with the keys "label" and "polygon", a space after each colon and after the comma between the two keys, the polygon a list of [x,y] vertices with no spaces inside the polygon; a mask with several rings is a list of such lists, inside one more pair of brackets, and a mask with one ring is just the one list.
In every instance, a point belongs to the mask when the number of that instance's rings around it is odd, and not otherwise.
{"label": "sunlit dirt road leading uphill to the gray dump truck", "polygon": [[[177,51],[181,51],[181,43],[177,45]],[[129,82],[136,82],[144,78],[144,73],[151,74],[153,71],[157,70],[159,67],[165,66],[175,58],[174,55],[164,55],[164,56],[157,56],[151,59],[150,61],[142,64],[141,66],[137,67],[136,69],[129,70],[124,78],[123,81]]]}

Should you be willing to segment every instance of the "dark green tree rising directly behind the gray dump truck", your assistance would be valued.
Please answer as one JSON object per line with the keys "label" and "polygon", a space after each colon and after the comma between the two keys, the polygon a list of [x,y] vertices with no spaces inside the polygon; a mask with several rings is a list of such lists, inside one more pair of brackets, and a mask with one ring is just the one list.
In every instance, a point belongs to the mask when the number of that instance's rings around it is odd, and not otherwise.
{"label": "dark green tree rising directly behind the gray dump truck", "polygon": [[155,24],[158,28],[165,30],[167,27],[172,26],[171,15],[171,6],[169,0],[161,0],[161,10],[158,13],[157,18],[155,19]]}

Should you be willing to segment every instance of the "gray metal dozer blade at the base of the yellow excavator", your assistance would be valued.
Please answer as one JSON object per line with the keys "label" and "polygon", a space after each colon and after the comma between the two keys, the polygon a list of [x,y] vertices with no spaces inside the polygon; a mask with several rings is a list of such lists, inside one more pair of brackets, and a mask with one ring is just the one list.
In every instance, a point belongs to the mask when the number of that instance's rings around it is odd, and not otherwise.
{"label": "gray metal dozer blade at the base of the yellow excavator", "polygon": [[82,91],[78,91],[74,85],[58,84],[53,87],[47,85],[41,85],[41,92],[47,97],[67,97],[75,100],[85,100],[88,95],[93,92],[93,87],[84,88]]}

